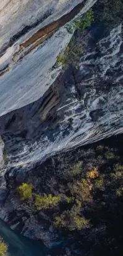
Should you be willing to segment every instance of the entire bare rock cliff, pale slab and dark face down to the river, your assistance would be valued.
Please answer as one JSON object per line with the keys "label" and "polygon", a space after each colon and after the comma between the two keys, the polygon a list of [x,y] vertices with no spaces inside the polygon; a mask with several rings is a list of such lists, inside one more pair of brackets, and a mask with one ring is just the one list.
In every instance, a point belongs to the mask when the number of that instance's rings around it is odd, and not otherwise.
{"label": "entire bare rock cliff, pale slab and dark face down to the river", "polygon": [[[33,209],[22,205],[11,189],[13,180],[31,181],[30,170],[48,156],[123,131],[121,26],[108,35],[102,31],[100,38],[99,26],[83,35],[79,71],[73,66],[65,73],[52,68],[70,41],[65,23],[74,18],[71,11],[81,2],[4,1],[1,6],[0,131],[7,163],[1,172],[0,217],[48,247],[57,234],[47,232],[42,216],[35,217]],[[75,16],[94,1],[82,4]]]}

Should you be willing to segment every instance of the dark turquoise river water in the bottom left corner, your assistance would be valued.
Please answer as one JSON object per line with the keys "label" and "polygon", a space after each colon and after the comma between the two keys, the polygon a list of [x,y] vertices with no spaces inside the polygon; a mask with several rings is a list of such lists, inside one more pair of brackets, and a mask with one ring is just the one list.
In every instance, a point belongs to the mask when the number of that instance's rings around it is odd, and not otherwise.
{"label": "dark turquoise river water in the bottom left corner", "polygon": [[9,247],[9,256],[45,256],[48,254],[48,248],[43,243],[19,235],[2,220],[0,220],[0,236]]}

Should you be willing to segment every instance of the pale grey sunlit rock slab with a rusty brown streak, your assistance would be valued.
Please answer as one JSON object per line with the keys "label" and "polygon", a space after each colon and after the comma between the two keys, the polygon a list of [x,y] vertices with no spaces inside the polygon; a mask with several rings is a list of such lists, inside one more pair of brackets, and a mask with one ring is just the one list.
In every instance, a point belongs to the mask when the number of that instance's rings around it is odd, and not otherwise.
{"label": "pale grey sunlit rock slab with a rusty brown streak", "polygon": [[43,96],[60,71],[51,68],[71,38],[65,24],[95,2],[8,0],[2,3],[0,115]]}

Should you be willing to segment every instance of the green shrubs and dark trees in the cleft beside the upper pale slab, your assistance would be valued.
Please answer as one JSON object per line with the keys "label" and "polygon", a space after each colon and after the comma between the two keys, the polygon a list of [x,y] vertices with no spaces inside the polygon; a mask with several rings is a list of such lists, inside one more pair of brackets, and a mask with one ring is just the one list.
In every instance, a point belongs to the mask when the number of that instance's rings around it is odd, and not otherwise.
{"label": "green shrubs and dark trees in the cleft beside the upper pale slab", "polygon": [[79,36],[71,38],[69,46],[64,53],[57,56],[55,67],[63,65],[63,69],[73,65],[78,69],[78,62],[83,53],[83,32],[91,26],[92,23],[104,24],[106,29],[111,29],[114,25],[121,24],[123,20],[122,0],[99,0],[80,18],[66,24],[68,33],[79,32]]}

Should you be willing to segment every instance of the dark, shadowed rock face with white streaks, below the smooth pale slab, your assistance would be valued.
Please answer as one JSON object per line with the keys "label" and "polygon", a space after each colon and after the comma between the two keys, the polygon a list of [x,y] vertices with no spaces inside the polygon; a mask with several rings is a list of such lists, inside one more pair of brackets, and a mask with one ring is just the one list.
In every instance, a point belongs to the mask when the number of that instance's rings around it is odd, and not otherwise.
{"label": "dark, shadowed rock face with white streaks, below the smooth pale slab", "polygon": [[8,168],[122,133],[121,26],[103,39],[100,29],[83,37],[80,71],[70,67],[38,101],[1,116]]}

